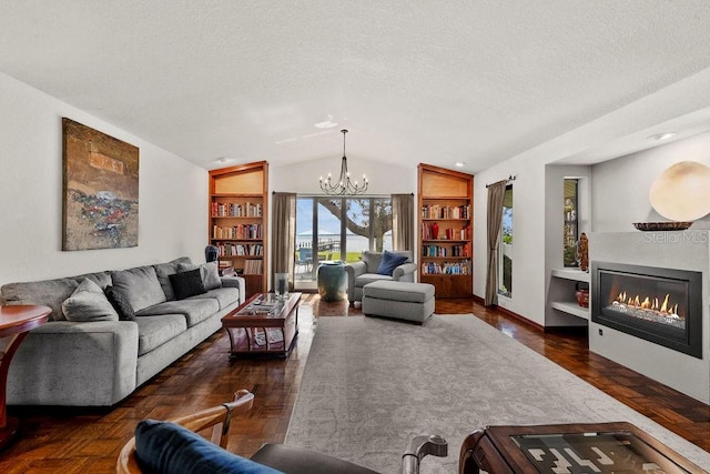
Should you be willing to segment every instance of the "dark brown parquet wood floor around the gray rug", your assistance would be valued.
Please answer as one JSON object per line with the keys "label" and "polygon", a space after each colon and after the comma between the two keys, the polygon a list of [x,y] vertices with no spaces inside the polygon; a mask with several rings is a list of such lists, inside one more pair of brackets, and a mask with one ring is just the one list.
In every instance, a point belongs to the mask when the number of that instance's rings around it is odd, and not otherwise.
{"label": "dark brown parquet wood floor around the gray rug", "polygon": [[[710,451],[710,405],[682,395],[588,350],[580,334],[549,334],[474,300],[437,300],[438,314],[474,313],[643,415]],[[359,315],[347,302],[304,295],[300,335],[291,356],[229,360],[222,331],[156,375],[112,410],[10,407],[22,435],[0,452],[2,473],[110,473],[135,424],[217,405],[239,389],[255,394],[254,409],[232,423],[229,448],[251,455],[265,442],[284,440],[313,339],[314,317]],[[477,426],[471,426],[471,430]],[[458,446],[453,454],[457,455]]]}

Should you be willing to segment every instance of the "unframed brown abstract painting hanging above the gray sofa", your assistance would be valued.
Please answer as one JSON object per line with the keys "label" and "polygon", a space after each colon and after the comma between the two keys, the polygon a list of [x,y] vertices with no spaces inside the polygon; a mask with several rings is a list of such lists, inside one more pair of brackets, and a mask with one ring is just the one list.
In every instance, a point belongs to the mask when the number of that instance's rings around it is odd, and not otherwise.
{"label": "unframed brown abstract painting hanging above the gray sofa", "polygon": [[62,137],[62,250],[138,246],[138,147],[67,118]]}

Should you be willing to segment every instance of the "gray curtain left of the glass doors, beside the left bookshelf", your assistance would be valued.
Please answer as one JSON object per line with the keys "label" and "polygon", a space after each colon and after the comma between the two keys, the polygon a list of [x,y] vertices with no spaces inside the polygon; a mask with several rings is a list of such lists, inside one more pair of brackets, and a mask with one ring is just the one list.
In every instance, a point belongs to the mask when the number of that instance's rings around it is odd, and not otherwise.
{"label": "gray curtain left of the glass doors, beside the left bookshelf", "polygon": [[271,249],[273,255],[272,285],[276,273],[288,273],[288,291],[293,291],[295,240],[296,240],[296,194],[287,192],[274,193],[274,220],[272,226]]}

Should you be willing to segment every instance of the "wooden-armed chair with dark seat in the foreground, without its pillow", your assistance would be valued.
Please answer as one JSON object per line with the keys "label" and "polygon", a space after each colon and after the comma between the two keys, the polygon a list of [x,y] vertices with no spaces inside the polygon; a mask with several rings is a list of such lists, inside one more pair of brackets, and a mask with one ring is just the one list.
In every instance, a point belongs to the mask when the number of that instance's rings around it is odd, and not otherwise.
{"label": "wooden-armed chair with dark seat in the foreground, without its pillow", "polygon": [[[232,416],[246,413],[253,404],[254,394],[241,390],[234,394],[233,402],[169,421],[195,433],[211,430],[209,440],[226,448]],[[424,456],[428,454],[446,456],[447,447],[446,441],[440,436],[416,436],[402,456],[402,473],[418,474],[419,462]],[[314,472],[321,474],[377,474],[375,471],[347,461],[287,444],[267,443],[251,457],[251,461],[286,474],[311,474]],[[116,473],[140,474],[142,472],[135,451],[135,437],[132,437],[119,454]]]}

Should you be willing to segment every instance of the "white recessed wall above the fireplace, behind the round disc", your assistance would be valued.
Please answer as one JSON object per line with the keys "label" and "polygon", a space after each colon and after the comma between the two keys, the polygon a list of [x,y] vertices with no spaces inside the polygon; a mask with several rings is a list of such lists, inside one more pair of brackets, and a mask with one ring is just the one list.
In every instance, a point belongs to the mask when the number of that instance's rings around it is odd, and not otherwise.
{"label": "white recessed wall above the fireplace, behind the round disc", "polygon": [[[710,167],[710,133],[592,167],[592,230],[635,232],[633,222],[668,221],[653,210],[648,193],[656,178],[680,161]],[[710,215],[696,221],[692,229],[710,229]]]}

